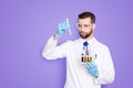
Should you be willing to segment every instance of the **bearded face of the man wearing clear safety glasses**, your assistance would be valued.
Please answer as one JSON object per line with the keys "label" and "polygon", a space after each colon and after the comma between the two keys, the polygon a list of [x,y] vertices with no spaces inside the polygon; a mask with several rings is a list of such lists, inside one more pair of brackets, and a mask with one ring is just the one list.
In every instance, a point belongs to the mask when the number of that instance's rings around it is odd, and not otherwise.
{"label": "bearded face of the man wearing clear safety glasses", "polygon": [[91,19],[79,19],[78,20],[79,34],[82,38],[88,38],[92,35],[94,30],[94,23],[91,23]]}

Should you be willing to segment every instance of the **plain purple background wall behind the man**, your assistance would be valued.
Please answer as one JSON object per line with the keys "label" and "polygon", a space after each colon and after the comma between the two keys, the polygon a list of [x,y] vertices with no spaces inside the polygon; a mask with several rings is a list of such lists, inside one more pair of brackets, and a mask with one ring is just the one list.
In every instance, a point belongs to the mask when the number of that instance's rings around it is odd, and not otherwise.
{"label": "plain purple background wall behind the man", "polygon": [[65,59],[49,62],[41,52],[65,18],[70,19],[73,35],[65,33],[59,44],[79,37],[75,24],[82,11],[95,13],[94,34],[112,53],[115,80],[102,88],[131,88],[132,3],[132,0],[0,0],[0,88],[63,88]]}

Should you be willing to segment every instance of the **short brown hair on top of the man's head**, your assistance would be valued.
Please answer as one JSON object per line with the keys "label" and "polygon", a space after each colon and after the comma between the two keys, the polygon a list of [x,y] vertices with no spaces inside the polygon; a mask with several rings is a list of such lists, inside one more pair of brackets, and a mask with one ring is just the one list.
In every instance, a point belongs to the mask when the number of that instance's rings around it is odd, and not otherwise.
{"label": "short brown hair on top of the man's head", "polygon": [[95,23],[95,15],[92,12],[82,12],[79,14],[79,19],[91,18],[91,23]]}

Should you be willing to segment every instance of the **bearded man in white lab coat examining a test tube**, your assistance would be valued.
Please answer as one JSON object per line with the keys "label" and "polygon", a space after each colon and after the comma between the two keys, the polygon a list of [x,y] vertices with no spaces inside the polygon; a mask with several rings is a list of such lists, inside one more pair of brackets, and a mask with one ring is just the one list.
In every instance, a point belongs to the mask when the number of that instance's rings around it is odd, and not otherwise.
{"label": "bearded man in white lab coat examining a test tube", "polygon": [[109,47],[94,37],[94,28],[95,15],[92,12],[82,12],[78,18],[80,38],[57,46],[58,40],[70,29],[68,22],[62,22],[43,48],[42,56],[47,59],[66,58],[64,88],[101,88],[101,85],[114,80]]}

